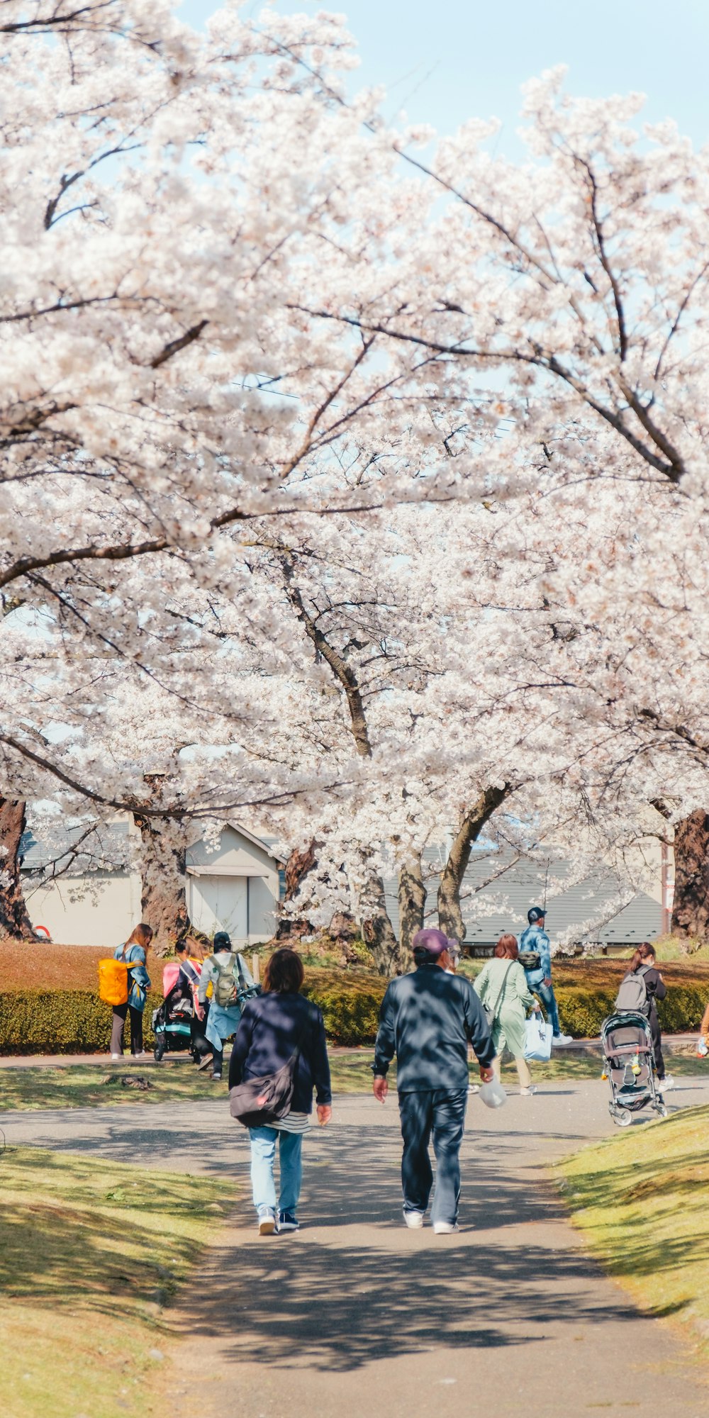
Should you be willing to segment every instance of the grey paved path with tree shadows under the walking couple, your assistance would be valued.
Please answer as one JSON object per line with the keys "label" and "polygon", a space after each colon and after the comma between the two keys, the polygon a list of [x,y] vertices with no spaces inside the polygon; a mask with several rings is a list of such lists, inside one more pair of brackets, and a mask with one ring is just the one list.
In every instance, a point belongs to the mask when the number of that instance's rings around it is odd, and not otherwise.
{"label": "grey paved path with tree shadows under the walking couple", "polygon": [[[700,1102],[699,1078],[671,1095]],[[182,1303],[197,1377],[166,1377],[174,1418],[703,1418],[700,1370],[587,1258],[545,1173],[614,1130],[604,1085],[547,1083],[496,1113],[471,1100],[455,1236],[401,1225],[396,1102],[343,1098],[335,1116],[305,1141],[302,1232],[268,1239],[223,1102],[0,1116],[10,1144],[242,1178]]]}

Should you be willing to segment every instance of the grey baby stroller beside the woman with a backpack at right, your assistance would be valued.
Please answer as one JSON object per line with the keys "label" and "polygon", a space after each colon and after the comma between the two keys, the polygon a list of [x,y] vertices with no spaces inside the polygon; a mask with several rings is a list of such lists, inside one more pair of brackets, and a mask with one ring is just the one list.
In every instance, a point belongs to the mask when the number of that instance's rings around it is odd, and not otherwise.
{"label": "grey baby stroller beside the woman with a backpack at right", "polygon": [[652,1037],[644,1014],[611,1014],[601,1024],[601,1048],[611,1085],[608,1112],[618,1127],[628,1127],[632,1113],[652,1107],[666,1117],[655,1079]]}

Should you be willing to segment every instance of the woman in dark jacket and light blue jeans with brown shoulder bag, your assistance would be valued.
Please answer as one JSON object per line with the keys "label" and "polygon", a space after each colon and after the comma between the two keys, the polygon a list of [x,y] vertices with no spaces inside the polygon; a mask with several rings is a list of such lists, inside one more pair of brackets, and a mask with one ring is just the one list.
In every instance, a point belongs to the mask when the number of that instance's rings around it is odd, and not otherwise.
{"label": "woman in dark jacket and light blue jeans with brown shoulder bag", "polygon": [[[315,1089],[318,1122],[332,1117],[330,1066],[325,1044],[322,1011],[299,994],[303,966],[295,950],[277,950],[264,971],[264,994],[244,1005],[231,1062],[228,1086],[248,1078],[277,1073],[296,1048],[301,1049],[294,1076],[291,1110],[269,1127],[250,1127],[251,1185],[258,1214],[258,1234],[298,1231],[303,1133],[309,1127]],[[281,1163],[278,1212],[275,1201],[275,1141]]]}

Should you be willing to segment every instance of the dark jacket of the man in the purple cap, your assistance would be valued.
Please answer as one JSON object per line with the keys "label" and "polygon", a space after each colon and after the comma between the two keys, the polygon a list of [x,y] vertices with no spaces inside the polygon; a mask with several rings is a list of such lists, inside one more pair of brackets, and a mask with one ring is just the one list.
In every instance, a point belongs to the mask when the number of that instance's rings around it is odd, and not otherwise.
{"label": "dark jacket of the man in the purple cap", "polygon": [[485,1011],[469,980],[437,964],[391,980],[379,1012],[374,1073],[397,1056],[400,1093],[468,1086],[468,1041],[479,1064],[495,1058]]}

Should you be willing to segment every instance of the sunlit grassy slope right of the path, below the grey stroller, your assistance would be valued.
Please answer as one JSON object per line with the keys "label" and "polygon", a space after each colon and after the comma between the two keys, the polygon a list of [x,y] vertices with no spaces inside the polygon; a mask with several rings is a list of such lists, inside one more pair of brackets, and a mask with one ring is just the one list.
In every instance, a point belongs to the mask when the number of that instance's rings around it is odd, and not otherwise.
{"label": "sunlit grassy slope right of the path, below the grey stroller", "polygon": [[570,1157],[562,1187],[604,1266],[647,1312],[709,1336],[709,1107],[688,1107]]}

